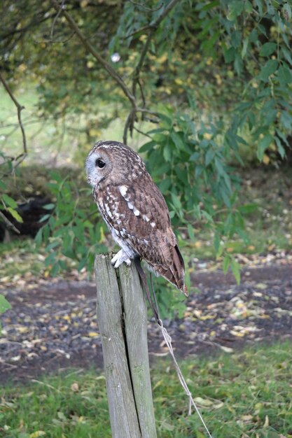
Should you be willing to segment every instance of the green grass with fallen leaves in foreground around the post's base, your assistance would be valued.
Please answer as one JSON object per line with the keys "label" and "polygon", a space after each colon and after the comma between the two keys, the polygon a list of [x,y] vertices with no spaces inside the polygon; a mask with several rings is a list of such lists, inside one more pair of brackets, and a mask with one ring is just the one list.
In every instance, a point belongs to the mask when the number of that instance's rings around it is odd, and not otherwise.
{"label": "green grass with fallen leaves in foreground around the post's base", "polygon": [[[291,344],[180,362],[214,438],[292,437]],[[197,414],[187,415],[172,363],[156,360],[151,377],[158,437],[203,438]],[[50,438],[111,437],[103,374],[78,371],[9,384],[0,397],[0,437],[35,438],[42,436],[38,431]]]}

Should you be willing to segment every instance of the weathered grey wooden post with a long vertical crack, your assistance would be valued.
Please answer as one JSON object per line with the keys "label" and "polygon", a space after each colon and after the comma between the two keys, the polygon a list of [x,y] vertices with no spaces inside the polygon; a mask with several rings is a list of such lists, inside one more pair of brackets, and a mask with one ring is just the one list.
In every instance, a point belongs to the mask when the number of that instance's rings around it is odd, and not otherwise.
{"label": "weathered grey wooden post with a long vertical crack", "polygon": [[147,309],[134,263],[115,269],[97,255],[97,321],[113,438],[156,438],[147,346]]}

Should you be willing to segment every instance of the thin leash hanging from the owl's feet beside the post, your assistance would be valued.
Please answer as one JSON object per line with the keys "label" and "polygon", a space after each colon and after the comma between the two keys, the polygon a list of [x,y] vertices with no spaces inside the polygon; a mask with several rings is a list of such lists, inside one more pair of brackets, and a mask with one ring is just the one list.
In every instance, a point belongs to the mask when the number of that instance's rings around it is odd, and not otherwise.
{"label": "thin leash hanging from the owl's feet beside the post", "polygon": [[166,328],[164,327],[164,325],[162,323],[162,320],[160,319],[159,309],[158,309],[158,302],[157,302],[157,299],[156,299],[155,290],[153,288],[152,276],[150,274],[151,290],[152,290],[152,294],[153,294],[153,297],[154,297],[154,302],[153,302],[153,299],[151,298],[151,292],[149,291],[149,288],[148,288],[148,283],[147,283],[146,275],[145,275],[144,270],[141,267],[141,262],[140,262],[139,258],[134,259],[134,262],[136,264],[137,271],[139,273],[139,277],[141,278],[141,281],[142,281],[142,283],[144,285],[144,290],[146,292],[146,297],[147,297],[148,302],[149,302],[149,304],[151,306],[151,309],[153,311],[153,315],[155,317],[156,323],[158,323],[158,325],[159,325],[159,327],[161,329],[162,336],[164,337],[165,343],[167,344],[167,348],[169,350],[169,353],[172,356],[172,360],[174,362],[174,367],[176,369],[176,374],[179,377],[179,381],[181,383],[181,386],[183,387],[183,390],[185,391],[186,395],[188,396],[188,415],[190,416],[192,414],[192,406],[193,406],[195,408],[195,411],[196,411],[197,415],[200,418],[200,421],[202,422],[202,425],[204,426],[204,429],[207,432],[208,437],[212,438],[211,433],[209,432],[209,429],[207,428],[207,425],[204,422],[202,414],[200,414],[200,411],[197,408],[197,405],[195,404],[195,400],[193,400],[192,393],[190,393],[190,390],[188,389],[188,385],[186,383],[186,380],[183,377],[181,369],[179,368],[179,364],[176,361],[176,358],[174,356],[174,349],[172,348],[172,338],[169,336]]}

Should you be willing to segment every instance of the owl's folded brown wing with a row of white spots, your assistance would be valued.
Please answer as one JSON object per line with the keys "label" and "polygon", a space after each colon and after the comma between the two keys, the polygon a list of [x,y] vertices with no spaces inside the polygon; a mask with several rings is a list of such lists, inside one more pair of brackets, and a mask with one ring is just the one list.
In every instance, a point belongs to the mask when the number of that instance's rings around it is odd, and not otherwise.
{"label": "owl's folded brown wing with a row of white spots", "polygon": [[186,293],[184,264],[172,231],[167,204],[152,179],[106,185],[95,194],[111,231],[158,273]]}

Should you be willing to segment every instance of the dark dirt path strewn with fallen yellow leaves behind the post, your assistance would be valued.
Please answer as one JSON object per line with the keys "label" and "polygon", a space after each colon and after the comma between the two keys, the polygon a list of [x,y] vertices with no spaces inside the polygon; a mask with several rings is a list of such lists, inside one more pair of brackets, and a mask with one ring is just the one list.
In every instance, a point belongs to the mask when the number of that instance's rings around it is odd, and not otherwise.
{"label": "dark dirt path strewn with fallen yellow leaves behind the post", "polygon": [[[245,257],[244,257],[245,258]],[[242,282],[209,262],[192,274],[183,319],[165,322],[178,357],[215,353],[292,337],[292,253],[249,257]],[[24,381],[57,369],[102,367],[95,284],[77,278],[0,281],[13,309],[4,313],[0,381]],[[160,328],[148,323],[151,357],[167,355]]]}

